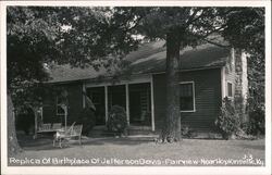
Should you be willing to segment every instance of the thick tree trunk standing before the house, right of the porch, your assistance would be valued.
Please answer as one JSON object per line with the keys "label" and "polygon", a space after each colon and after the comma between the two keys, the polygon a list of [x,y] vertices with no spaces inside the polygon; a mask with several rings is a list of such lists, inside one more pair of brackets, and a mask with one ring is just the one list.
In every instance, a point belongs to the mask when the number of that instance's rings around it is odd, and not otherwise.
{"label": "thick tree trunk standing before the house, right of the porch", "polygon": [[165,123],[162,129],[162,141],[180,141],[181,112],[180,112],[180,30],[172,30],[166,35],[166,111]]}

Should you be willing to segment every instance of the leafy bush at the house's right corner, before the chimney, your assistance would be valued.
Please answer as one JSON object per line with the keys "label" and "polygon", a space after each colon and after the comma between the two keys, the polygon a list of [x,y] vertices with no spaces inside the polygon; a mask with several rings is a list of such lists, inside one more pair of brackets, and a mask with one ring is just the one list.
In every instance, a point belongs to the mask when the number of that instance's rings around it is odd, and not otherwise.
{"label": "leafy bush at the house's right corner, before the chimney", "polygon": [[223,138],[228,139],[235,135],[240,128],[239,115],[235,109],[234,102],[224,98],[219,117],[215,120]]}

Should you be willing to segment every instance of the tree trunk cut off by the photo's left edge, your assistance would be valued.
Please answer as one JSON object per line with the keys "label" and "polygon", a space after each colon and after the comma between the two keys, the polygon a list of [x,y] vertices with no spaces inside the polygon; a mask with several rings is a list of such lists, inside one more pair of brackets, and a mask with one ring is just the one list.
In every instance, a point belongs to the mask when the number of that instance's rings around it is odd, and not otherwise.
{"label": "tree trunk cut off by the photo's left edge", "polygon": [[13,112],[13,103],[11,96],[8,95],[8,157],[12,157],[20,152],[22,149],[18,146],[16,129],[15,129],[15,116]]}

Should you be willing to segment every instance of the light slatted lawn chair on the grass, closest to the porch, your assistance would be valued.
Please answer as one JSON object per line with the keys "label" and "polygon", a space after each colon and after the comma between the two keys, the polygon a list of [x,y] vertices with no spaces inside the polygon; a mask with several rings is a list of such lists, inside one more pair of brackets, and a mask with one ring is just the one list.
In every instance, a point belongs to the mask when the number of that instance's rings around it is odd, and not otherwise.
{"label": "light slatted lawn chair on the grass, closest to the porch", "polygon": [[69,129],[59,129],[53,138],[53,147],[55,142],[59,142],[59,147],[62,148],[62,142],[64,140],[70,140],[72,138],[77,138],[79,145],[82,145],[82,129],[83,125],[75,125],[75,122],[70,126]]}

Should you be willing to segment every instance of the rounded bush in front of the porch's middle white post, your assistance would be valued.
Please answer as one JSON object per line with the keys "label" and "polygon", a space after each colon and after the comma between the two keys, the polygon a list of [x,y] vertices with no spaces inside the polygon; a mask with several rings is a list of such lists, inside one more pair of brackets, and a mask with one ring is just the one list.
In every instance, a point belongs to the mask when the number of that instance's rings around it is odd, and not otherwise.
{"label": "rounded bush in front of the porch's middle white post", "polygon": [[119,134],[124,133],[127,127],[126,113],[124,108],[120,105],[113,105],[109,112],[109,118],[107,122],[108,130],[116,132]]}

